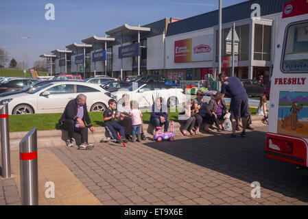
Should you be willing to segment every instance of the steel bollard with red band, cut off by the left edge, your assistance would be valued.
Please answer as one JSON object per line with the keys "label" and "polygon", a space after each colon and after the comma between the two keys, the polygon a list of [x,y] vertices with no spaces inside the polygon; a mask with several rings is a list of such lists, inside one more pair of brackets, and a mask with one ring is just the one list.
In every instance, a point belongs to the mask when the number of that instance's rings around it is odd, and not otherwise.
{"label": "steel bollard with red band, cut off by the left edge", "polygon": [[8,128],[8,103],[3,105],[0,110],[0,128],[1,128],[1,159],[3,178],[11,177],[11,159],[10,159],[10,131]]}

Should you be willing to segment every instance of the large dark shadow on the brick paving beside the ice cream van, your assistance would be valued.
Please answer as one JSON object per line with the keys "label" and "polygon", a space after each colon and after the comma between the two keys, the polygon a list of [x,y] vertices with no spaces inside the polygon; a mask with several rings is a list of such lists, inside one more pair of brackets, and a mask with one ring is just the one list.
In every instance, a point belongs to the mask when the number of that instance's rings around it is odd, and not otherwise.
{"label": "large dark shadow on the brick paving beside the ice cream van", "polygon": [[265,132],[251,131],[246,138],[230,139],[230,133],[202,138],[149,142],[146,146],[261,188],[308,202],[308,172],[296,165],[265,155]]}

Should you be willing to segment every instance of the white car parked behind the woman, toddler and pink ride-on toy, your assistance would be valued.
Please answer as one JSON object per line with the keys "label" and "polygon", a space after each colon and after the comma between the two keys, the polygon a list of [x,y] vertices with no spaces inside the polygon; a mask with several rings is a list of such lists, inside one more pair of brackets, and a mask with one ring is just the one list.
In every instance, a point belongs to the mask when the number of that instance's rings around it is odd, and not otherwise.
{"label": "white car parked behind the woman, toddler and pink ride-on toy", "polygon": [[151,109],[158,96],[167,102],[168,107],[182,107],[187,99],[181,88],[173,88],[161,82],[132,83],[129,88],[121,88],[112,94],[117,96],[119,103],[123,101],[123,94],[128,94],[131,100],[138,101],[141,109]]}

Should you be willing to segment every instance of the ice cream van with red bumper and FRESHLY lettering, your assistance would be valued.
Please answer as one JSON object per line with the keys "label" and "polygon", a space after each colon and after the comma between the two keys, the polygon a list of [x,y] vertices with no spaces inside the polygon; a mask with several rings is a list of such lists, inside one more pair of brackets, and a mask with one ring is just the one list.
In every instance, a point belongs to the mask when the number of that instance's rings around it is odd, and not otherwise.
{"label": "ice cream van with red bumper and FRESHLY lettering", "polygon": [[268,157],[308,166],[308,1],[285,3],[270,85]]}

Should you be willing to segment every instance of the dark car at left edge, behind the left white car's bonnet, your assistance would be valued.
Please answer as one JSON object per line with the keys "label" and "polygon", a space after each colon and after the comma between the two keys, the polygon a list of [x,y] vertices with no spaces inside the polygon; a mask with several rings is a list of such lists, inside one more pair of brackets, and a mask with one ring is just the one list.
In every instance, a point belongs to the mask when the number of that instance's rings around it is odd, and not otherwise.
{"label": "dark car at left edge, behind the left white car's bonnet", "polygon": [[22,90],[36,83],[38,79],[10,79],[8,81],[3,81],[0,83],[0,94],[5,92],[12,92],[16,90]]}

